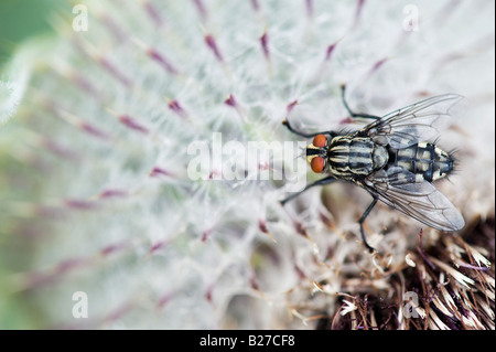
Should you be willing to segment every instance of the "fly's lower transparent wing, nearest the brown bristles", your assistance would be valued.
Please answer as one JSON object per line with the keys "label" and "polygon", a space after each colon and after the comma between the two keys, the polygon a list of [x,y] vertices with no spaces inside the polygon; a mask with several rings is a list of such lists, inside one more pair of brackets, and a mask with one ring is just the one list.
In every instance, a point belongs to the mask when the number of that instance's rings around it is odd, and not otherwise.
{"label": "fly's lower transparent wing, nearest the brown bristles", "polygon": [[432,183],[416,182],[416,175],[403,168],[377,171],[363,185],[384,203],[433,228],[457,231],[465,226],[462,214]]}

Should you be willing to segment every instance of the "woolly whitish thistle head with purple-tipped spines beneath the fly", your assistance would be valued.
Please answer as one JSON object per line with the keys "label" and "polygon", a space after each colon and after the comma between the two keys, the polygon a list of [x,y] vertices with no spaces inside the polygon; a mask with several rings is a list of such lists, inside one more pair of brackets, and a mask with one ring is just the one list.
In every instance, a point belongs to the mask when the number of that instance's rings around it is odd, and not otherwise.
{"label": "woolly whitish thistle head with purple-tipped spines beneath the fly", "polygon": [[[71,4],[0,82],[3,328],[494,329],[494,2],[87,1],[87,31]],[[467,97],[438,184],[465,230],[378,206],[370,255],[351,184],[281,207],[273,160],[188,177],[216,131],[343,128],[342,83],[377,115]]]}

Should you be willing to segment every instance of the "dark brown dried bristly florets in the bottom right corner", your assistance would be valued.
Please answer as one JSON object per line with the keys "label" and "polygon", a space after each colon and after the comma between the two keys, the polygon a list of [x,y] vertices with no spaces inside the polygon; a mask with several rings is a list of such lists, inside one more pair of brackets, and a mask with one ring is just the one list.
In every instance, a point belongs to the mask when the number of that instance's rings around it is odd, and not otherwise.
{"label": "dark brown dried bristly florets in the bottom right corner", "polygon": [[[490,228],[492,227],[492,228]],[[479,223],[473,234],[494,232],[493,223]],[[408,259],[381,277],[386,289],[355,294],[355,314],[343,306],[332,319],[334,329],[494,330],[494,266],[482,258],[483,247],[461,236],[440,236],[429,247],[408,253]],[[492,253],[494,257],[494,250]],[[494,262],[493,262],[494,263]],[[378,295],[378,292],[380,292]],[[345,299],[343,302],[347,303]]]}

